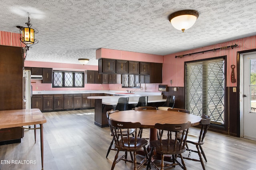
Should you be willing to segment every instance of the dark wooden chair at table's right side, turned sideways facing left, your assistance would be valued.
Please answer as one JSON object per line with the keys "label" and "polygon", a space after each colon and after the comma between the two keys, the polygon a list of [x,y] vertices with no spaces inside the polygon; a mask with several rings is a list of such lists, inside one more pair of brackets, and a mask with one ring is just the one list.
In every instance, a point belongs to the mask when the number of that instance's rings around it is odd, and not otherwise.
{"label": "dark wooden chair at table's right side, turned sideways facing left", "polygon": [[[188,160],[194,160],[194,161],[201,162],[202,168],[204,170],[205,170],[205,166],[204,166],[204,161],[202,159],[202,155],[203,155],[204,160],[206,162],[207,162],[207,159],[206,159],[204,150],[202,149],[202,145],[204,144],[204,139],[205,139],[206,133],[208,131],[208,128],[210,126],[210,122],[211,122],[211,117],[208,116],[208,115],[202,114],[202,119],[200,121],[200,124],[202,125],[201,130],[198,131],[198,133],[196,135],[188,133],[186,150],[189,150],[189,154],[188,154],[188,157],[183,157],[183,158],[188,159]],[[193,145],[196,145],[197,150],[188,149],[188,144],[189,143],[193,144]],[[191,152],[198,153],[199,160],[194,159],[194,158],[190,158]]]}

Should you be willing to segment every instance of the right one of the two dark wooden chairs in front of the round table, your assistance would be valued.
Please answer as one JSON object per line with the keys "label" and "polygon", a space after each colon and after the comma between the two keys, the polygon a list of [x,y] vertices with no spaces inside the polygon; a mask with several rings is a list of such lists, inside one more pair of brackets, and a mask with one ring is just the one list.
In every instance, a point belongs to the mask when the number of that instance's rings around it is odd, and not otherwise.
{"label": "right one of the two dark wooden chairs in front of the round table", "polygon": [[[182,169],[186,170],[186,165],[183,160],[182,153],[186,151],[186,139],[190,125],[190,121],[182,124],[155,124],[154,127],[158,129],[160,139],[156,141],[150,141],[150,146],[152,148],[150,150],[147,170],[150,167],[150,164],[152,164],[158,170],[156,164],[154,164],[151,159],[154,152],[161,155],[161,170],[164,170],[165,166],[175,167],[176,165],[179,165]],[[162,130],[166,131],[167,135],[160,135]],[[178,139],[178,134],[180,131],[182,131],[181,138]],[[170,160],[172,162],[170,162],[170,164],[164,164],[165,155],[172,155]],[[178,161],[178,158],[180,158],[181,163]]]}

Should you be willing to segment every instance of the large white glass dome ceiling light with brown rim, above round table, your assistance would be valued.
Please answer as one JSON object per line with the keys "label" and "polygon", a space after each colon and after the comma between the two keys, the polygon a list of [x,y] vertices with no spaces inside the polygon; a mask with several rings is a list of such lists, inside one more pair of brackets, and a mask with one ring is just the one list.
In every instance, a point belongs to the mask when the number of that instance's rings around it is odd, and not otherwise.
{"label": "large white glass dome ceiling light with brown rim, above round table", "polygon": [[170,14],[169,21],[174,28],[184,32],[194,25],[198,16],[199,13],[195,10],[182,10]]}

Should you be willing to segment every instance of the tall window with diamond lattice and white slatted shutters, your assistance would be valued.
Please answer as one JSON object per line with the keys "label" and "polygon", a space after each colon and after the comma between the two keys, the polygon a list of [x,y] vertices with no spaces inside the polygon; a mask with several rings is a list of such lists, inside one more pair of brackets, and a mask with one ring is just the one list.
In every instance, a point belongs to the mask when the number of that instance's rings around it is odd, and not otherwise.
{"label": "tall window with diamond lattice and white slatted shutters", "polygon": [[225,60],[223,58],[186,63],[186,109],[191,114],[212,117],[224,125]]}

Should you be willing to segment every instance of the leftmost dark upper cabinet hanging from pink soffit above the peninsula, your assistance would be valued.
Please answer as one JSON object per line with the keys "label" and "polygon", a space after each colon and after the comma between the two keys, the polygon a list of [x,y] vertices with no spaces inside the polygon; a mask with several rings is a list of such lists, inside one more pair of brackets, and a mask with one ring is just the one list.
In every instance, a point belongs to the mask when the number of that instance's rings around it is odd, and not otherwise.
{"label": "leftmost dark upper cabinet hanging from pink soffit above the peninsula", "polygon": [[99,73],[115,73],[116,60],[113,59],[99,59]]}

